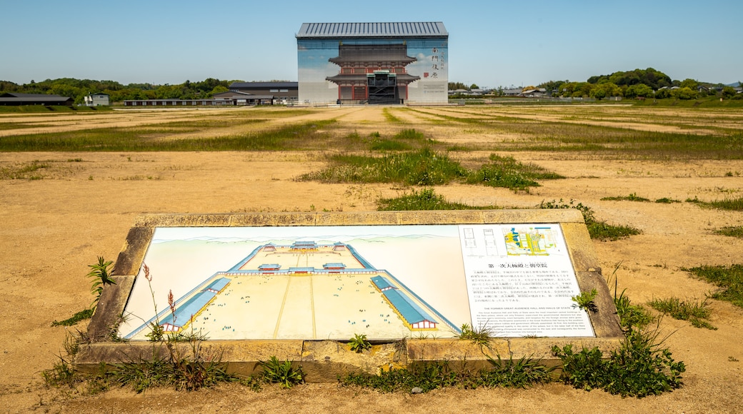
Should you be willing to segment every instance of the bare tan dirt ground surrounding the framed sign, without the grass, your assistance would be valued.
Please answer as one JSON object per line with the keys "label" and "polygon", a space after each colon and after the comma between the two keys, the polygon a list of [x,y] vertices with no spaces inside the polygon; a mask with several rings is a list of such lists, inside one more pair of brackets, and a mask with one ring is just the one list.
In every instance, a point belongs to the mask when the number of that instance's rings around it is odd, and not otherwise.
{"label": "bare tan dirt ground surrounding the framed sign, without the grass", "polygon": [[[431,110],[430,114],[435,111],[439,110]],[[172,116],[170,112],[165,114]],[[135,118],[137,114],[126,116]],[[499,139],[487,132],[464,133],[429,122],[425,115],[400,112],[395,116],[437,139],[451,142]],[[400,129],[399,125],[382,125],[385,117],[380,108],[328,108],[281,122],[304,122],[313,117],[335,117],[341,125],[362,136],[369,131],[384,134]],[[10,116],[0,117],[0,122],[7,119]],[[94,122],[111,126],[136,119],[113,117],[101,121],[103,117]],[[484,160],[487,154],[456,157]],[[574,199],[594,208],[600,220],[637,227],[643,233],[629,239],[594,242],[604,275],[616,269],[619,289],[626,289],[633,303],[670,296],[704,298],[713,286],[695,280],[680,268],[743,263],[743,240],[712,231],[723,226],[741,226],[743,214],[739,211],[703,209],[693,203],[600,200],[631,193],[651,200],[741,197],[743,161],[635,161],[548,153],[509,154],[568,179],[544,181],[529,194],[460,184],[441,186],[435,188],[436,192],[460,203],[514,207],[535,206],[542,200]],[[665,345],[676,361],[687,365],[684,387],[642,399],[620,398],[600,390],[574,390],[560,384],[528,390],[437,390],[421,395],[380,394],[337,384],[307,384],[291,390],[266,387],[259,393],[236,385],[198,392],[150,390],[140,395],[128,389],[94,395],[48,389],[41,372],[58,361],[65,338],[65,328],[52,327],[51,322],[68,318],[91,303],[91,280],[85,277],[87,266],[97,256],[112,260],[117,257],[138,214],[371,211],[376,209],[377,198],[394,197],[404,190],[384,184],[329,185],[293,180],[299,174],[322,168],[322,154],[317,152],[0,153],[3,168],[33,160],[50,165],[40,171],[41,180],[0,180],[0,281],[4,287],[0,296],[0,410],[4,412],[736,413],[740,410],[743,309],[717,300],[710,300],[711,323],[717,330],[696,329],[684,321],[663,319],[661,328],[670,335]],[[728,177],[728,171],[735,174]],[[85,326],[80,324],[77,328],[85,329]]]}

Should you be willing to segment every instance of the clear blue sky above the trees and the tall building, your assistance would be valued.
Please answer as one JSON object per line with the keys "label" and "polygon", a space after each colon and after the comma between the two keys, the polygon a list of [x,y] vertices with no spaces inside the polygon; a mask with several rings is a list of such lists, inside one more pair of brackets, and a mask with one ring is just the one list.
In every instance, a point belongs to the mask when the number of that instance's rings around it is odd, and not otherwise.
{"label": "clear blue sky above the trees and the tall building", "polygon": [[481,87],[649,67],[743,80],[742,0],[0,0],[0,16],[0,80],[19,84],[296,81],[303,22],[444,22],[450,82]]}

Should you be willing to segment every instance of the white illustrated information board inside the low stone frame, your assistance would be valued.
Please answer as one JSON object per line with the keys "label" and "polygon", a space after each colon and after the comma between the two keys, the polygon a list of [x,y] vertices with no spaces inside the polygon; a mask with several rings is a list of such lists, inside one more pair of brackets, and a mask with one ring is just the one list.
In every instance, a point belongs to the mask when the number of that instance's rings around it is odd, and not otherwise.
{"label": "white illustrated information board inside the low stone frame", "polygon": [[155,227],[118,333],[594,337],[578,293],[558,223]]}

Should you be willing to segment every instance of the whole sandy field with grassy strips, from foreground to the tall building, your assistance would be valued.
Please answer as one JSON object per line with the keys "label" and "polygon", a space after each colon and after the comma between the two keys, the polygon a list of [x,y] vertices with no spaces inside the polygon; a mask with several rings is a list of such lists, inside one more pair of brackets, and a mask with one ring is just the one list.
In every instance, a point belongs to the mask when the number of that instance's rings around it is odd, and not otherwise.
{"label": "whole sandy field with grassy strips, from foreground to the tall building", "polygon": [[[411,145],[430,145],[466,168],[498,154],[565,177],[539,180],[529,191],[434,185],[447,200],[502,208],[576,200],[600,220],[639,229],[632,237],[594,241],[604,275],[616,269],[619,290],[626,289],[633,303],[702,300],[715,286],[685,268],[743,263],[743,239],[714,232],[743,226],[743,212],[685,201],[743,197],[740,110],[473,105],[0,114],[0,410],[739,412],[743,309],[720,300],[709,300],[716,330],[662,319],[669,335],[663,346],[687,365],[684,387],[641,399],[562,384],[419,395],[337,384],[267,386],[258,393],[230,384],[142,394],[45,386],[41,373],[59,361],[65,338],[65,328],[51,323],[90,305],[88,265],[98,256],[115,260],[138,214],[376,210],[380,198],[412,187],[297,177],[322,170],[331,155],[371,154],[375,140],[411,129],[423,134]],[[651,201],[602,200],[630,194]],[[653,202],[662,198],[679,202]]]}

